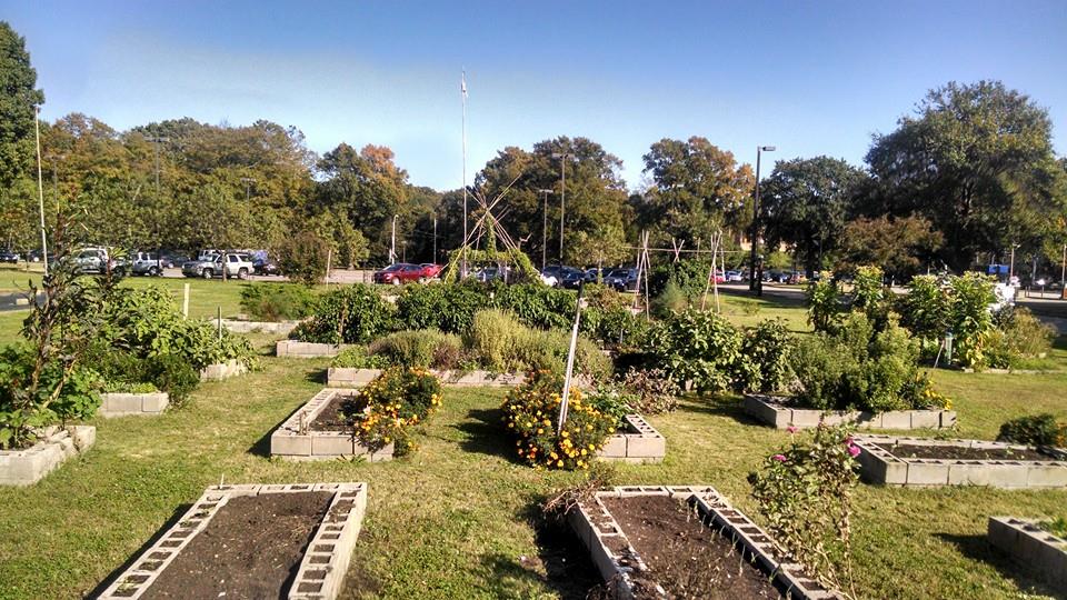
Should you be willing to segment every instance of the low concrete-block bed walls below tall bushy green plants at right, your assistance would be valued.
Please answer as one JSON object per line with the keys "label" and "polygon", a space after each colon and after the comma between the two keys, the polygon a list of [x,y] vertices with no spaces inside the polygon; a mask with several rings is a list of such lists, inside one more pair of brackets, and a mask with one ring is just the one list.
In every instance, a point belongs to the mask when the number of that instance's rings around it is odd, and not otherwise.
{"label": "low concrete-block bed walls below tall bushy green plants at right", "polygon": [[948,429],[956,424],[953,410],[891,410],[888,412],[821,411],[790,406],[789,399],[778,396],[748,394],[745,412],[775,427],[808,429],[819,422],[828,426],[852,423],[862,429]]}

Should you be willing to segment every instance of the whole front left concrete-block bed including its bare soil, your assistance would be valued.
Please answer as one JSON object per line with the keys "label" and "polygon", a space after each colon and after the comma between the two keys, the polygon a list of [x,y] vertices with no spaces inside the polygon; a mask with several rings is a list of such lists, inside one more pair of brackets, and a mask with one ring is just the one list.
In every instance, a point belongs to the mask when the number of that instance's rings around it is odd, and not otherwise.
{"label": "whole front left concrete-block bed including its bare soil", "polygon": [[337,598],[366,509],[366,483],[208,488],[100,598]]}

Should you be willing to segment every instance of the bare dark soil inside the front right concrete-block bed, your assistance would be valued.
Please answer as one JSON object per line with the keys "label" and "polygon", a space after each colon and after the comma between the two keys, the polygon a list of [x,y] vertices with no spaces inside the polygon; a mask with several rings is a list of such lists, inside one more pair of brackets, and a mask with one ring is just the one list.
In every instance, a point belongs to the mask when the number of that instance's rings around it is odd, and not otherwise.
{"label": "bare dark soil inside the front right concrete-block bed", "polygon": [[630,544],[649,570],[635,573],[638,598],[779,598],[768,576],[740,549],[705,526],[682,501],[666,496],[604,498]]}

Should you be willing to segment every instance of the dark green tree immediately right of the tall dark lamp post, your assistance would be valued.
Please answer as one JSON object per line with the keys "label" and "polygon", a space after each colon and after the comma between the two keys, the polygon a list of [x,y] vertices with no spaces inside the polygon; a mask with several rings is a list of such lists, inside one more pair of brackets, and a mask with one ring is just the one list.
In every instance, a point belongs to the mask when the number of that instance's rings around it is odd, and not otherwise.
{"label": "dark green tree immediately right of the tall dark lamp post", "polygon": [[760,213],[768,248],[794,244],[808,277],[837,248],[845,220],[865,174],[840,159],[816,157],[775,164],[760,184]]}

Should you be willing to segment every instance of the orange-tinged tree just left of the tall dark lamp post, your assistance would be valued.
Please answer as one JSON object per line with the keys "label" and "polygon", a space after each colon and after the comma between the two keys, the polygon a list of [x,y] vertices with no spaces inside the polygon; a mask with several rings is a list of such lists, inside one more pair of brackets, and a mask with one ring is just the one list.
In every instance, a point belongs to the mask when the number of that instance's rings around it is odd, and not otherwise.
{"label": "orange-tinged tree just left of the tall dark lamp post", "polygon": [[638,204],[641,223],[660,239],[710,240],[716,230],[740,233],[751,222],[755,177],[748,164],[705,138],[662,139],[644,157],[652,186]]}

